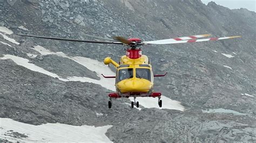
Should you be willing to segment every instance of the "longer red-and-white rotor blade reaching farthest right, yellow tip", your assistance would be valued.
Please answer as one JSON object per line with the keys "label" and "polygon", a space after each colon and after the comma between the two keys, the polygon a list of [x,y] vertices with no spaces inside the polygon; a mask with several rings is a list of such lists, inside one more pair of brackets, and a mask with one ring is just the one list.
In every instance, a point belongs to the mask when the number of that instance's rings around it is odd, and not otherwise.
{"label": "longer red-and-white rotor blade reaching farthest right, yellow tip", "polygon": [[191,40],[180,40],[180,41],[172,41],[168,39],[165,40],[156,40],[156,41],[145,41],[144,44],[179,44],[179,43],[186,43],[186,42],[204,42],[204,41],[217,41],[217,40],[224,40],[224,39],[232,39],[232,38],[239,38],[241,36],[232,36],[232,37],[221,37],[221,38],[207,38],[207,39],[191,39]]}

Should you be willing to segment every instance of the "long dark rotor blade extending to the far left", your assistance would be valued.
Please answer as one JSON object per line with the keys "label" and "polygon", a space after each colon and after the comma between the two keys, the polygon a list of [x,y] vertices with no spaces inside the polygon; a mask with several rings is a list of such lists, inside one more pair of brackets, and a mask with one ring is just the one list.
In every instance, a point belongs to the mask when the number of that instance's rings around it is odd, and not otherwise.
{"label": "long dark rotor blade extending to the far left", "polygon": [[42,39],[51,39],[51,40],[61,40],[61,41],[73,41],[73,42],[89,42],[89,43],[98,43],[98,44],[120,44],[123,45],[122,42],[111,42],[111,41],[91,41],[91,40],[80,40],[80,39],[66,39],[66,38],[57,38],[57,37],[44,37],[38,35],[25,35],[25,34],[17,34],[26,37],[35,37],[35,38],[42,38]]}

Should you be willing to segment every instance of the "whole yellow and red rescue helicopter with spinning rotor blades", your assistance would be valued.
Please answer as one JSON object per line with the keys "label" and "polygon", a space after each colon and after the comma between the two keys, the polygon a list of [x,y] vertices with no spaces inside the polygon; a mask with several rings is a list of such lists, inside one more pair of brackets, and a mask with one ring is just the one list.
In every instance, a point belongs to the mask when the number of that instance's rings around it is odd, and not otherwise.
{"label": "whole yellow and red rescue helicopter with spinning rotor blades", "polygon": [[131,102],[131,108],[134,105],[139,108],[139,102],[136,102],[136,97],[153,97],[158,98],[158,105],[161,108],[163,102],[161,101],[161,92],[154,91],[154,77],[163,77],[163,75],[155,75],[152,71],[152,65],[149,58],[146,55],[142,54],[142,47],[144,45],[163,45],[163,44],[181,44],[181,43],[191,43],[191,42],[203,42],[203,41],[217,41],[225,40],[232,38],[239,38],[241,36],[232,36],[232,37],[221,37],[221,38],[205,38],[210,36],[210,34],[200,34],[200,35],[191,35],[188,37],[179,37],[172,39],[163,39],[163,40],[153,40],[153,41],[142,41],[139,38],[129,38],[124,37],[112,37],[113,39],[106,39],[95,37],[93,35],[88,35],[89,37],[103,39],[104,41],[98,40],[80,40],[80,39],[66,39],[66,38],[57,38],[57,37],[43,37],[38,35],[29,35],[29,34],[18,34],[25,37],[33,38],[42,38],[42,39],[52,39],[52,40],[62,40],[62,41],[74,41],[74,42],[87,42],[87,43],[96,43],[96,44],[117,44],[126,46],[126,54],[120,58],[120,61],[117,63],[113,61],[110,57],[104,59],[105,65],[110,65],[110,63],[116,67],[116,76],[105,76],[105,78],[115,78],[116,92],[109,94],[109,108],[112,107],[112,99],[116,98],[129,98],[133,97],[134,101]]}

